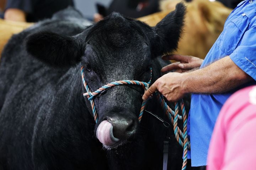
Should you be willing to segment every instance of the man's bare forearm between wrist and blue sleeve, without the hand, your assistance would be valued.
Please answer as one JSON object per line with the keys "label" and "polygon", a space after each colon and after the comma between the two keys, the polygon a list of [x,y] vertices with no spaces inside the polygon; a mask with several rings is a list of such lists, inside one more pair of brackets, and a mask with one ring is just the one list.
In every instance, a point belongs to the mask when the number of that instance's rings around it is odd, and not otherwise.
{"label": "man's bare forearm between wrist and blue sleeve, without the hand", "polygon": [[252,80],[229,56],[182,76],[187,93],[221,93]]}

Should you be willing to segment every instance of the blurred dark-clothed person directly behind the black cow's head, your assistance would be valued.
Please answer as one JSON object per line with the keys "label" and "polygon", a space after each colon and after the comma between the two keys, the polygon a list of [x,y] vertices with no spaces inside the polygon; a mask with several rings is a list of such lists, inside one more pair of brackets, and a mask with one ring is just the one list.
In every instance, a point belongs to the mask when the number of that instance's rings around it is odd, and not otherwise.
{"label": "blurred dark-clothed person directly behind the black cow's head", "polygon": [[[103,7],[103,6],[102,6]],[[126,17],[138,18],[159,11],[159,0],[113,0],[105,11],[95,13],[94,21],[98,22],[112,12],[119,12]],[[99,12],[99,11],[98,11]]]}

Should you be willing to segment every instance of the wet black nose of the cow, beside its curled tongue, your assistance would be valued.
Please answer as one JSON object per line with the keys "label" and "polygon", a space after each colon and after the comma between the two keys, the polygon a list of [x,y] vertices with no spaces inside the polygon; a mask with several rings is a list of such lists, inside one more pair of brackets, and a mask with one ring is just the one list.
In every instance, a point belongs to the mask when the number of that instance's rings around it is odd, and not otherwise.
{"label": "wet black nose of the cow, beside its curled tongue", "polygon": [[124,140],[134,137],[138,123],[133,119],[115,117],[108,118],[107,120],[113,126],[114,137]]}

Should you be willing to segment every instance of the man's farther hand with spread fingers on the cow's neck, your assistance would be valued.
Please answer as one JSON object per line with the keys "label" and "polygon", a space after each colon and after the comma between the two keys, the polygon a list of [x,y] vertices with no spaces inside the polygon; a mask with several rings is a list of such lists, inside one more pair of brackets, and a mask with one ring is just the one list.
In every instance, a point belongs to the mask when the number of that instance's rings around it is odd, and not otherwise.
{"label": "man's farther hand with spread fingers on the cow's neck", "polygon": [[161,69],[161,72],[176,70],[175,72],[187,72],[190,69],[200,67],[203,60],[193,56],[167,55],[162,57],[163,60],[175,60],[176,63],[169,64]]}

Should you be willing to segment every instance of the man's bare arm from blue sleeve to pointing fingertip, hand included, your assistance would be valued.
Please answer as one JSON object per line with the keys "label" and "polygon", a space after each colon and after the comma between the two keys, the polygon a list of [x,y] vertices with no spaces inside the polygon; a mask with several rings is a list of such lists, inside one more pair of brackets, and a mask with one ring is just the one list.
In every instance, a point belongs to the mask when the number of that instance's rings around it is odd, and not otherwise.
{"label": "man's bare arm from blue sleeve to pointing fingertip, hand included", "polygon": [[168,101],[175,102],[187,93],[226,92],[250,80],[252,78],[227,56],[192,72],[163,75],[145,91],[143,100],[158,90]]}

